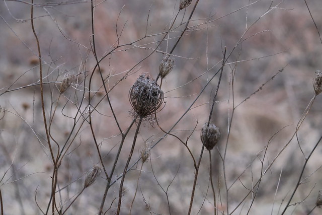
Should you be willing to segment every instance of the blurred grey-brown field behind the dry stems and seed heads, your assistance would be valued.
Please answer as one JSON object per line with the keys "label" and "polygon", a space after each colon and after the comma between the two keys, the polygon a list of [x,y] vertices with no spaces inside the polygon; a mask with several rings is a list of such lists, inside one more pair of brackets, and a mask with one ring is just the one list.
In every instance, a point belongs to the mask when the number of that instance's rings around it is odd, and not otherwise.
{"label": "blurred grey-brown field behind the dry stems and seed heads", "polygon": [[[309,0],[307,3],[321,32],[322,2]],[[174,25],[178,28],[170,32],[157,51],[137,64],[156,48],[156,41],[163,36],[160,33],[169,29],[178,4],[179,1],[168,0],[95,2],[98,57],[118,45],[118,37],[119,45],[129,44],[116,49],[100,62],[102,75],[111,89],[110,102],[122,129],[126,129],[132,120],[132,107],[128,100],[130,86],[141,73],[148,72],[151,77],[157,77],[159,63],[164,56],[162,52],[168,53],[172,49],[195,1],[181,11]],[[42,214],[39,208],[46,211],[51,191],[53,165],[42,117],[37,43],[31,29],[30,9],[29,2],[0,3],[0,189],[5,214]],[[107,169],[112,168],[121,135],[104,98],[100,74],[93,71],[96,60],[89,51],[93,41],[91,3],[36,1],[34,17],[46,82],[47,121],[57,105],[51,125],[52,136],[60,146],[66,140],[71,141],[69,135],[73,138],[59,169],[59,191],[56,194],[66,207],[70,199],[81,191],[87,170],[99,163],[89,124],[77,121],[75,127],[79,132],[72,131],[77,110],[85,116],[88,114],[89,78],[93,72],[92,106],[97,105],[92,114],[93,127]],[[180,25],[181,20],[183,25]],[[213,177],[217,192],[221,191],[219,210],[226,214],[226,207],[231,212],[259,179],[259,158],[262,158],[268,142],[265,168],[292,137],[298,120],[314,95],[312,79],[314,71],[322,68],[322,44],[302,0],[200,1],[189,26],[173,52],[174,69],[162,84],[166,105],[157,117],[160,126],[169,130],[189,110],[172,133],[183,140],[189,137],[188,145],[199,157],[202,146],[200,129],[208,120],[219,75],[202,90],[220,68],[226,47],[227,55],[230,55],[223,70],[212,118],[221,130],[221,140],[212,151]],[[130,73],[124,77],[129,69]],[[66,73],[78,75],[78,82],[72,84],[57,102],[57,87]],[[200,93],[201,96],[193,103]],[[249,214],[281,213],[304,164],[299,145],[308,155],[321,135],[321,106],[322,99],[317,96],[298,131],[299,144],[294,138],[262,178]],[[236,108],[232,115],[233,107]],[[114,180],[123,172],[134,131],[132,128],[125,140]],[[130,164],[140,157],[145,145],[151,146],[163,136],[164,132],[156,123],[145,122],[140,128]],[[219,152],[224,153],[226,143],[223,170]],[[322,189],[321,150],[318,146],[310,158],[303,175],[305,179],[291,201],[294,205],[285,214],[307,214],[315,206],[318,190]],[[208,152],[204,152],[192,214],[213,214],[208,159]],[[124,208],[129,208],[133,199],[140,165],[140,162],[134,165],[126,176]],[[223,171],[227,187],[231,186],[228,205]],[[175,137],[166,136],[151,149],[149,162],[143,165],[132,214],[150,214],[151,211],[155,214],[186,214],[193,179],[194,166],[186,148]],[[72,204],[67,214],[97,214],[105,184],[102,174]],[[116,212],[118,188],[119,181],[116,181],[105,203],[106,214]],[[168,195],[163,191],[167,188]],[[232,214],[247,214],[251,200],[252,195],[249,195]],[[320,213],[319,208],[311,212]],[[124,209],[122,214],[128,214],[128,210]]]}

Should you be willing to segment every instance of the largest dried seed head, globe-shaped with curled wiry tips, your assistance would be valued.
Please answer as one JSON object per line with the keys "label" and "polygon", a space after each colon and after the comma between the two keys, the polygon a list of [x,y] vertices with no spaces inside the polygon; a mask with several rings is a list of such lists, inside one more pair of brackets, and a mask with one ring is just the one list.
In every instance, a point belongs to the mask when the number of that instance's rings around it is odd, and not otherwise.
{"label": "largest dried seed head, globe-shaped with curled wiry tips", "polygon": [[143,73],[131,87],[129,100],[135,115],[144,118],[162,105],[164,94],[156,81]]}

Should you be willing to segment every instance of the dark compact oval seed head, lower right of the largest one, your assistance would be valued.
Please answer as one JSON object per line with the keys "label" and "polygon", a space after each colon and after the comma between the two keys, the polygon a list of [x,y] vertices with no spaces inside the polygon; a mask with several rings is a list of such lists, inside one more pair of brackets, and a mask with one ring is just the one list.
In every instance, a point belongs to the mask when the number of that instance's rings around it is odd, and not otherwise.
{"label": "dark compact oval seed head, lower right of the largest one", "polygon": [[220,130],[215,124],[210,123],[208,126],[208,122],[206,122],[201,128],[200,138],[206,149],[212,150],[213,147],[218,143],[220,138]]}

